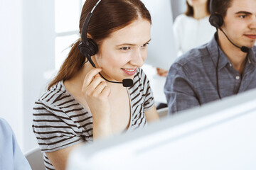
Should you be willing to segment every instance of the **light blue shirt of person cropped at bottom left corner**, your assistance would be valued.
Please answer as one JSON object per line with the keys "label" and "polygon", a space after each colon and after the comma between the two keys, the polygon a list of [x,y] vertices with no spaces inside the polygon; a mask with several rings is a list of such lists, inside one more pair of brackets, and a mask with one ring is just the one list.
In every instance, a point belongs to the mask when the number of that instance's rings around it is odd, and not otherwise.
{"label": "light blue shirt of person cropped at bottom left corner", "polygon": [[31,170],[31,166],[18,147],[10,125],[0,118],[0,169]]}

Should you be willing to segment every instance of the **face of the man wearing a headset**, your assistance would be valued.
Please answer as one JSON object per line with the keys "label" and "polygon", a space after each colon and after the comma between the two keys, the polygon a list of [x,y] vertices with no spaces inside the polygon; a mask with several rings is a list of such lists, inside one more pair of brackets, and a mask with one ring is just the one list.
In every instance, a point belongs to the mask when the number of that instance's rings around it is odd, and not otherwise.
{"label": "face of the man wearing a headset", "polygon": [[256,0],[233,0],[223,19],[222,28],[236,45],[255,45]]}

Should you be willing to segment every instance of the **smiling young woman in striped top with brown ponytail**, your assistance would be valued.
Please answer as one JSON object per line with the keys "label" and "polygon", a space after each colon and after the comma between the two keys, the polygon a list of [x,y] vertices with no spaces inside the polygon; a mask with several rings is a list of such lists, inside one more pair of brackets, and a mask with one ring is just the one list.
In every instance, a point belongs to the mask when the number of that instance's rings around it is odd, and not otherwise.
{"label": "smiling young woman in striped top with brown ponytail", "polygon": [[[81,142],[144,128],[147,121],[159,119],[149,80],[139,68],[151,40],[149,11],[139,0],[87,0],[80,33],[92,8],[87,35],[81,36],[97,44],[91,57],[96,68],[80,54],[79,39],[33,108],[33,131],[46,169],[65,169],[69,152]],[[133,85],[109,82],[123,79],[133,79]]]}

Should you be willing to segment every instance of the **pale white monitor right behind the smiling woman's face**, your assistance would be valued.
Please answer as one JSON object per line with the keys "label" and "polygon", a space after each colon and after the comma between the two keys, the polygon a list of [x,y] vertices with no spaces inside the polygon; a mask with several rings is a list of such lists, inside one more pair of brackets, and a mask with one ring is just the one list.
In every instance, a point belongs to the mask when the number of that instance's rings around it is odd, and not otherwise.
{"label": "pale white monitor right behind the smiling woman's face", "polygon": [[151,42],[146,64],[169,69],[176,60],[171,0],[142,0],[151,14]]}

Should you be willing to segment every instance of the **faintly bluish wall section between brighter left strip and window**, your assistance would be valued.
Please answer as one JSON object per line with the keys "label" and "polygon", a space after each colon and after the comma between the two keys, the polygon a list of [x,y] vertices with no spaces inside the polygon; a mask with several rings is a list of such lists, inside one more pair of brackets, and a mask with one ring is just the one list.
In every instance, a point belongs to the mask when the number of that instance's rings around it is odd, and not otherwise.
{"label": "faintly bluish wall section between brighter left strip and window", "polygon": [[43,73],[55,68],[53,0],[23,0],[24,150],[36,146],[31,128],[33,103],[46,90]]}

